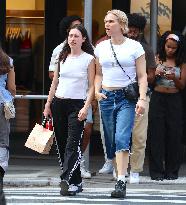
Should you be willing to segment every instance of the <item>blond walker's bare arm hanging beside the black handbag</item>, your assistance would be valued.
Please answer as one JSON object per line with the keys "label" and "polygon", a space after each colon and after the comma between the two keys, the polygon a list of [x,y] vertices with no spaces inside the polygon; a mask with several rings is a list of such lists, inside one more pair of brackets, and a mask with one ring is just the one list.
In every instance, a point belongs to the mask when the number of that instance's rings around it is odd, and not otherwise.
{"label": "blond walker's bare arm hanging beside the black handbag", "polygon": [[136,72],[140,94],[139,100],[136,104],[136,113],[138,115],[143,115],[146,107],[146,94],[148,87],[145,55],[142,55],[136,59]]}

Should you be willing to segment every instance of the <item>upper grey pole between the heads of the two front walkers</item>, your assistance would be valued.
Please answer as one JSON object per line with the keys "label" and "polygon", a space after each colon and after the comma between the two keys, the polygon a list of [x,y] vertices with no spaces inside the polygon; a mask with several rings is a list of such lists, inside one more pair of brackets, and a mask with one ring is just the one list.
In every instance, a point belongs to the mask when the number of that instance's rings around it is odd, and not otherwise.
{"label": "upper grey pole between the heads of the two front walkers", "polygon": [[84,26],[92,41],[92,0],[84,0]]}

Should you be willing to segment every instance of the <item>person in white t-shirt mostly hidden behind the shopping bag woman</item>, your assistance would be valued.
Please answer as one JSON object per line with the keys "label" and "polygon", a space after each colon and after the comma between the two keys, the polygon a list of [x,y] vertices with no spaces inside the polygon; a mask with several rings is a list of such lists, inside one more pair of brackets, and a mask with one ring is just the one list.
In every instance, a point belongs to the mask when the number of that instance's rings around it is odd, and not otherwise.
{"label": "person in white t-shirt mostly hidden behind the shopping bag woman", "polygon": [[[63,49],[63,46],[65,44],[65,39],[67,37],[67,31],[70,27],[74,26],[74,25],[79,25],[82,24],[82,19],[80,16],[77,15],[72,15],[72,16],[66,16],[64,17],[60,23],[59,23],[59,33],[61,36],[61,41],[62,43],[59,44],[52,53],[51,56],[51,60],[50,60],[50,65],[49,65],[49,78],[52,80],[54,77],[54,71],[57,69],[58,64],[56,63],[56,60],[58,59],[58,56],[60,54],[60,52]],[[88,121],[86,121],[85,124],[85,129],[84,129],[84,137],[83,137],[83,141],[88,141],[90,142],[90,135],[92,132],[92,124],[93,124],[93,119],[92,119],[92,108],[90,107],[88,109]],[[86,144],[85,142],[83,142],[83,144]],[[63,143],[63,142],[58,142],[58,143]],[[85,149],[85,156],[82,156],[81,159],[81,175],[83,178],[91,178],[91,173],[88,170],[88,167],[85,165],[85,163],[87,162],[88,164],[88,160],[89,160],[89,153],[87,153],[89,151],[89,149]]]}

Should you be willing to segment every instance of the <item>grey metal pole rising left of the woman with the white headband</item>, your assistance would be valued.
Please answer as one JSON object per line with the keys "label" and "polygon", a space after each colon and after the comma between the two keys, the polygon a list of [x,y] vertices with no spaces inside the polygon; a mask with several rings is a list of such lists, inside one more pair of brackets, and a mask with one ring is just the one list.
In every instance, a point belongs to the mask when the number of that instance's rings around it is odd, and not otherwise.
{"label": "grey metal pole rising left of the woman with the white headband", "polygon": [[158,0],[150,1],[150,45],[157,52]]}

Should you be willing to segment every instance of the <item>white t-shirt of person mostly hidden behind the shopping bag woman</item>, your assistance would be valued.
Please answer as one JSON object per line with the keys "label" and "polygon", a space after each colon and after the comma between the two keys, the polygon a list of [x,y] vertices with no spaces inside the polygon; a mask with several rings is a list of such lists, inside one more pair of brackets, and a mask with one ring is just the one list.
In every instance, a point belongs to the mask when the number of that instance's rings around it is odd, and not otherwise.
{"label": "white t-shirt of person mostly hidden behind the shopping bag woman", "polygon": [[63,49],[63,46],[65,44],[65,41],[61,44],[59,44],[52,52],[52,56],[51,56],[51,60],[50,60],[50,65],[49,65],[49,71],[55,71],[56,68],[57,68],[57,59],[58,59],[58,56],[60,54],[60,52],[62,51]]}

